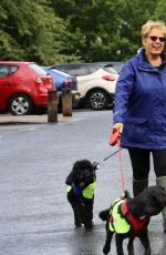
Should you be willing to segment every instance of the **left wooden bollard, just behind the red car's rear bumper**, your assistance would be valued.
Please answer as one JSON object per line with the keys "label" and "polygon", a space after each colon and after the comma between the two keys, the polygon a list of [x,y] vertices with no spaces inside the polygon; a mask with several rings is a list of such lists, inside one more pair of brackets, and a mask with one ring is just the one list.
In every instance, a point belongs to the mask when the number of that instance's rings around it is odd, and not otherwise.
{"label": "left wooden bollard, just behind the red car's rear bumper", "polygon": [[48,91],[48,122],[58,122],[59,96],[56,90]]}

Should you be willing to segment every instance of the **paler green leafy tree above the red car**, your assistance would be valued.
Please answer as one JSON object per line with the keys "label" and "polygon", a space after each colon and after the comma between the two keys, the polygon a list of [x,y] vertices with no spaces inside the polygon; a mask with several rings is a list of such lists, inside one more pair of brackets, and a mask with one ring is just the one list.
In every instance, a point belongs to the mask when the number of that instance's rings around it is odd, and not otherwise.
{"label": "paler green leafy tree above the red car", "polygon": [[60,53],[68,32],[61,18],[45,0],[1,0],[0,58],[54,63],[68,57]]}

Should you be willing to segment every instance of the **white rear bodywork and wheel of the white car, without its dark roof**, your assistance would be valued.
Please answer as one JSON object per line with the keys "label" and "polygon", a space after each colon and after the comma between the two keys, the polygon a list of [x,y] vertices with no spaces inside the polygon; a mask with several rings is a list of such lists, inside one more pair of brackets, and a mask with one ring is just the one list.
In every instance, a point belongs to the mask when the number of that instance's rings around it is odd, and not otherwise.
{"label": "white rear bodywork and wheel of the white car, without its dark roof", "polygon": [[115,70],[107,72],[102,68],[89,75],[76,76],[80,103],[93,110],[103,110],[113,104],[117,78]]}

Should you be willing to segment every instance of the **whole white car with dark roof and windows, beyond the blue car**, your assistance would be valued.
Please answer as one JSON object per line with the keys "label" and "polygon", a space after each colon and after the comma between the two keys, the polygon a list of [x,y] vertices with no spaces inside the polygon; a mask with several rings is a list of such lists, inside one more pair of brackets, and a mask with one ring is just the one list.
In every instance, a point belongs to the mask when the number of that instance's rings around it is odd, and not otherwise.
{"label": "whole white car with dark roof and windows, beyond the blue car", "polygon": [[80,104],[103,110],[114,103],[118,73],[110,63],[69,63],[53,68],[76,76]]}

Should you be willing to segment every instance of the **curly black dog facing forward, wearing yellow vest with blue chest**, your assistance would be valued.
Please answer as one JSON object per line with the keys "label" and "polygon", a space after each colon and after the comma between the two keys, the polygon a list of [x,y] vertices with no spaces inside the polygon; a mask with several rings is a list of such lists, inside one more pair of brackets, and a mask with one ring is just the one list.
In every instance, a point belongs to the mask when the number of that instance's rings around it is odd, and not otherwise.
{"label": "curly black dog facing forward, wearing yellow vest with blue chest", "polygon": [[97,163],[87,160],[76,161],[72,172],[66,177],[68,201],[74,211],[74,224],[90,230],[93,226],[93,202],[95,187],[95,170]]}

